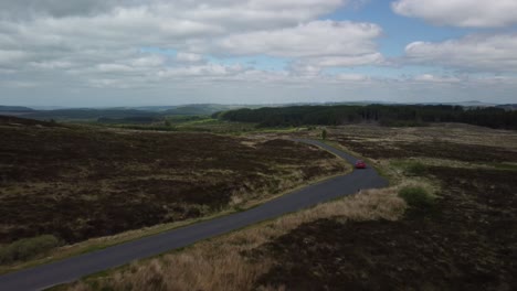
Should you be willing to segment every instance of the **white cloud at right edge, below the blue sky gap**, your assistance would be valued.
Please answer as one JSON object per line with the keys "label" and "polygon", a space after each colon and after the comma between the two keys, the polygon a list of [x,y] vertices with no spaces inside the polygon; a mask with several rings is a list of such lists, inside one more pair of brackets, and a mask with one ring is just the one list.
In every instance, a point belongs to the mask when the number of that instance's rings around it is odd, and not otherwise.
{"label": "white cloud at right edge, below the blue sky gap", "polygon": [[474,34],[439,43],[413,42],[405,47],[405,60],[473,72],[517,72],[517,34]]}

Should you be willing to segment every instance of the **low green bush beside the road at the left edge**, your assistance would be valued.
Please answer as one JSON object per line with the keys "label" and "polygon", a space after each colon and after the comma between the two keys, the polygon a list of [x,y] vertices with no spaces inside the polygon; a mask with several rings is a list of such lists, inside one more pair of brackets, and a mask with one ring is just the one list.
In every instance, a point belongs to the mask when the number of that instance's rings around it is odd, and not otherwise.
{"label": "low green bush beside the road at the left edge", "polygon": [[52,235],[23,238],[10,245],[0,247],[0,263],[27,260],[59,247],[60,245],[60,239]]}

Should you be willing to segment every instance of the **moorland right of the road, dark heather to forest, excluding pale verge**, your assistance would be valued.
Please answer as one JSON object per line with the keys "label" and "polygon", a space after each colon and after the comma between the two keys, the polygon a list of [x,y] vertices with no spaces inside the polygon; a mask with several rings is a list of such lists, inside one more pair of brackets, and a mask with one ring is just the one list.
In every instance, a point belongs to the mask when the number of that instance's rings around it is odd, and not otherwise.
{"label": "moorland right of the road, dark heather to forest, excluding pale verge", "polygon": [[305,224],[260,248],[260,254],[276,262],[257,285],[515,289],[515,132],[457,125],[354,126],[329,129],[329,137],[368,157],[392,181],[437,183],[437,203],[430,209],[412,207],[397,222],[319,219]]}

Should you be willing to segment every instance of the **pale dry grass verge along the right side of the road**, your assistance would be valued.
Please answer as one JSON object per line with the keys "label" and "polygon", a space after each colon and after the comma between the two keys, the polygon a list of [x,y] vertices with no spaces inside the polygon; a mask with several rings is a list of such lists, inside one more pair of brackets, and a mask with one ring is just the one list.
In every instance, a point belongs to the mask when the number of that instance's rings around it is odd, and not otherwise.
{"label": "pale dry grass verge along the right side of the road", "polygon": [[[182,251],[134,262],[129,267],[75,283],[68,290],[250,290],[272,261],[253,260],[244,252],[272,241],[299,225],[320,218],[340,222],[389,219],[402,216],[405,203],[398,187],[362,191],[272,222],[199,242]],[[283,290],[263,288],[262,290]]]}

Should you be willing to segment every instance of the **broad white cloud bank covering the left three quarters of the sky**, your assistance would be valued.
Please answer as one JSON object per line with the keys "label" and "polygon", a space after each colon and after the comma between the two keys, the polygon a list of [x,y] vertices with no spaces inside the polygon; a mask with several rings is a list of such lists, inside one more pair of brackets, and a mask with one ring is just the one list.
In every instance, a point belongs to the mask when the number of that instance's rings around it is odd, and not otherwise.
{"label": "broad white cloud bank covering the left three quarters of the sky", "polygon": [[[317,77],[324,67],[382,61],[376,44],[380,26],[318,20],[356,2],[0,1],[0,74],[103,88],[159,87],[192,76],[192,82],[297,83],[302,76]],[[208,55],[268,55],[293,65],[292,72],[273,73],[250,62],[212,64]]]}

